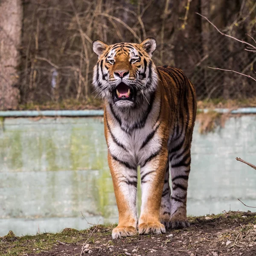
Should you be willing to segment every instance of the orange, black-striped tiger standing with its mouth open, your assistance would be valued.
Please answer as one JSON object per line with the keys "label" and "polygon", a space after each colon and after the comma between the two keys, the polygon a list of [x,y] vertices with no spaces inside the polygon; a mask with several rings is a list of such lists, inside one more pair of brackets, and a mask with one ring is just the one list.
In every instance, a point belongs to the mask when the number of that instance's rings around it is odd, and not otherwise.
{"label": "orange, black-striped tiger standing with its mouth open", "polygon": [[[140,44],[93,41],[93,86],[105,101],[104,133],[119,222],[112,238],[189,227],[186,218],[193,84],[175,67],[156,67],[154,38]],[[142,203],[137,216],[137,167]],[[172,195],[169,184],[172,178]]]}

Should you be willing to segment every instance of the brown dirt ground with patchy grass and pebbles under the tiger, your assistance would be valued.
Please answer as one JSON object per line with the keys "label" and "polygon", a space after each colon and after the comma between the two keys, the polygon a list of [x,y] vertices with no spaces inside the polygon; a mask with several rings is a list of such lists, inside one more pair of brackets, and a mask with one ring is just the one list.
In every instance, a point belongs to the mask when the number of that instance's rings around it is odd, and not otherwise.
{"label": "brown dirt ground with patchy grass and pebbles under the tiger", "polygon": [[111,238],[115,225],[61,233],[0,238],[3,256],[256,256],[256,213],[225,212],[190,217],[191,227],[167,230],[161,236]]}

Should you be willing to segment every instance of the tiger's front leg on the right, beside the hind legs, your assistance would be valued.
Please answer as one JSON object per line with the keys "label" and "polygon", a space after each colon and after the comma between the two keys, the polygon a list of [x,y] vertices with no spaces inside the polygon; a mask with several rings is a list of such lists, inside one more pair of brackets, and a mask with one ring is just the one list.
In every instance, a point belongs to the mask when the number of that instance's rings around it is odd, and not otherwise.
{"label": "tiger's front leg on the right, beside the hind legs", "polygon": [[140,166],[142,187],[140,234],[166,233],[164,225],[160,223],[160,204],[167,160],[167,149],[162,149],[156,156],[148,157]]}

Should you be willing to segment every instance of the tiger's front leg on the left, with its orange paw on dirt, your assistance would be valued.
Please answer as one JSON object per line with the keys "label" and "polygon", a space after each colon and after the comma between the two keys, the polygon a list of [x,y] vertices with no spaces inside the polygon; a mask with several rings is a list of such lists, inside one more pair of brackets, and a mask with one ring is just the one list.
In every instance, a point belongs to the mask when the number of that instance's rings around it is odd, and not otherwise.
{"label": "tiger's front leg on the left, with its orange paw on dirt", "polygon": [[112,231],[112,238],[137,234],[137,167],[114,159],[108,154],[108,164],[113,180],[116,204],[119,213],[118,226]]}

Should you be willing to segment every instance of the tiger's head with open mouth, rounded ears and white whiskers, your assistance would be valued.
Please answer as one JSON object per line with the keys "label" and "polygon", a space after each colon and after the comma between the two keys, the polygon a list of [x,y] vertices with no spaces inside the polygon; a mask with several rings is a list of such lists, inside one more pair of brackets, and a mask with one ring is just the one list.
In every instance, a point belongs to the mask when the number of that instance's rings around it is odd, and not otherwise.
{"label": "tiger's head with open mouth, rounded ears and white whiskers", "polygon": [[151,60],[155,49],[154,38],[141,44],[94,41],[93,51],[98,55],[93,69],[96,92],[118,108],[136,108],[148,102],[157,87],[157,70]]}

